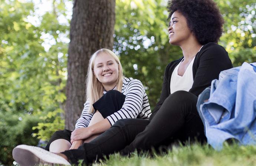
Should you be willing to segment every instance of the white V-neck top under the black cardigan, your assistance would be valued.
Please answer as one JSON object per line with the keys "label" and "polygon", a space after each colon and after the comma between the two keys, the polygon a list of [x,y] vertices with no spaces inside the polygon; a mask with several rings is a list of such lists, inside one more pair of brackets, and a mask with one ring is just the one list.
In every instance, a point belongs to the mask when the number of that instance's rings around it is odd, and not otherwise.
{"label": "white V-neck top under the black cardigan", "polygon": [[171,94],[178,90],[185,90],[188,92],[191,89],[194,83],[193,70],[192,70],[194,59],[195,57],[193,58],[193,60],[191,60],[183,76],[178,75],[178,68],[180,66],[180,63],[184,60],[184,58],[173,70],[173,74],[171,74],[171,83],[170,83]]}

